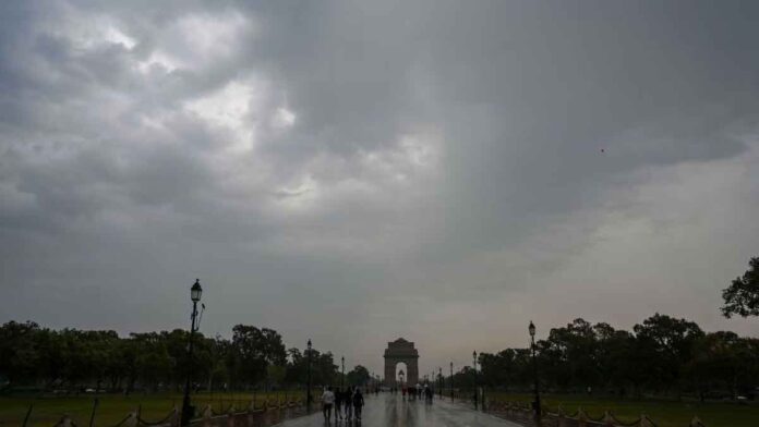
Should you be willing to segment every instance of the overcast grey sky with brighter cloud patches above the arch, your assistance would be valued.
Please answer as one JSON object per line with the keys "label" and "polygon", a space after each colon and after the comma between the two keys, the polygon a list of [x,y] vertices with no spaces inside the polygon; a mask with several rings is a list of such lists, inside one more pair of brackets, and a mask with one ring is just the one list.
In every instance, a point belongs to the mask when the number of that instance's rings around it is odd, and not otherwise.
{"label": "overcast grey sky with brighter cloud patches above the arch", "polygon": [[0,321],[381,371],[704,329],[759,255],[759,3],[0,2]]}

